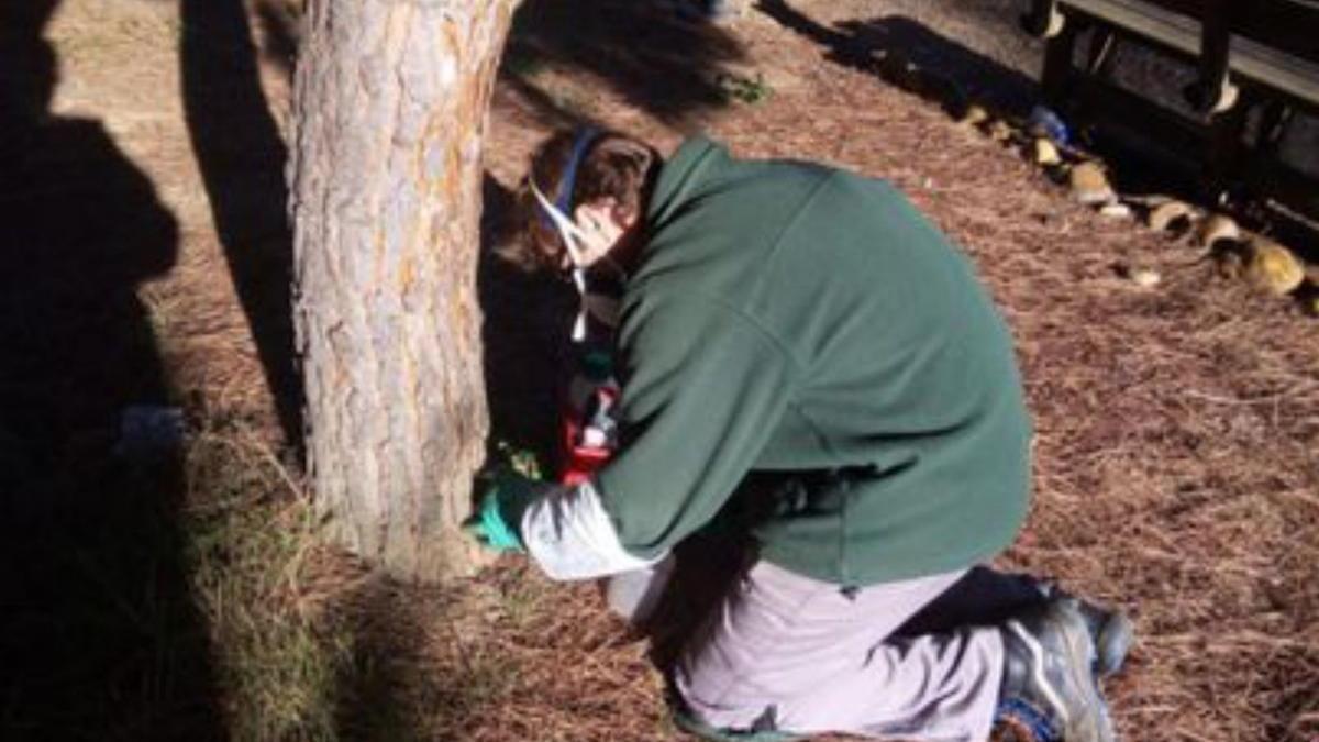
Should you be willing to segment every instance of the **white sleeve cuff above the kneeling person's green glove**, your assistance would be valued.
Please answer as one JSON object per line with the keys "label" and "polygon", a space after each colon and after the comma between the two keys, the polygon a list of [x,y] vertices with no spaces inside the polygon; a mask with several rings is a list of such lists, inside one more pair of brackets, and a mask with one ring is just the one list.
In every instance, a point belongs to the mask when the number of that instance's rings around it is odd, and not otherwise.
{"label": "white sleeve cuff above the kneeling person's green glove", "polygon": [[629,555],[588,481],[555,489],[522,514],[522,541],[551,580],[590,580],[642,569],[662,560]]}

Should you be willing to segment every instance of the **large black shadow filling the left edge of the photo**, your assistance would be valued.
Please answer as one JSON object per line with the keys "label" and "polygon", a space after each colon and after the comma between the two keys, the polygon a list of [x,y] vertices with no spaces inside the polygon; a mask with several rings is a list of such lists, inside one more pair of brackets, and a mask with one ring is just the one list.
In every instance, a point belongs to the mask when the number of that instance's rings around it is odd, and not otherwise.
{"label": "large black shadow filling the left edge of the photo", "polygon": [[178,441],[124,424],[174,403],[136,289],[178,226],[99,121],[50,114],[57,5],[0,9],[0,738],[224,739]]}

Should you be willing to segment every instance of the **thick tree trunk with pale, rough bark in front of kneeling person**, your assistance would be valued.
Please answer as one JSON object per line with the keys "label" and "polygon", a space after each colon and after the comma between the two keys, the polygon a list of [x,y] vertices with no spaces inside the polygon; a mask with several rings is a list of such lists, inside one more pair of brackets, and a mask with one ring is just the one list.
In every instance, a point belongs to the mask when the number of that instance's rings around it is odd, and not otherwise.
{"label": "thick tree trunk with pale, rough bark in front of kneeling person", "polygon": [[513,0],[310,0],[290,211],[307,465],[335,537],[435,580],[480,556],[481,143]]}

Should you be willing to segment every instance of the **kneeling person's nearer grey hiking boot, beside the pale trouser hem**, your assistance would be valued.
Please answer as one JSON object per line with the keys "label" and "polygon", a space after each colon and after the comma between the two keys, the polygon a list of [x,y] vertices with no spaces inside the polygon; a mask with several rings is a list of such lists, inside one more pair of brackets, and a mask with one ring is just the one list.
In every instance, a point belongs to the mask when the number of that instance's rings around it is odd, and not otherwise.
{"label": "kneeling person's nearer grey hiking boot, beside the pale trouser hem", "polygon": [[[1009,619],[996,726],[1022,742],[1113,742],[1093,675],[1095,642],[1075,598],[1050,598]],[[1009,730],[1012,737],[1002,737]]]}

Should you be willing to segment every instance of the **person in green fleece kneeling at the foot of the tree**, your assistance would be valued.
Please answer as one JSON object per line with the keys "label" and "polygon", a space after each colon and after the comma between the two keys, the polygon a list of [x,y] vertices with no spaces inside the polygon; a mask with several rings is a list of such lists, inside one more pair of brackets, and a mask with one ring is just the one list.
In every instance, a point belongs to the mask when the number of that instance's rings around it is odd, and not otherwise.
{"label": "person in green fleece kneeling at the foot of the tree", "polygon": [[1113,738],[1093,671],[1121,661],[1125,619],[1041,589],[992,624],[900,631],[1016,537],[1031,436],[993,302],[900,191],[594,129],[551,137],[526,185],[518,260],[625,276],[620,444],[576,487],[501,479],[488,539],[557,580],[637,570],[748,474],[783,482],[674,668],[685,726]]}

